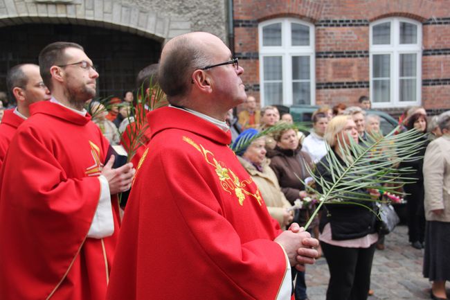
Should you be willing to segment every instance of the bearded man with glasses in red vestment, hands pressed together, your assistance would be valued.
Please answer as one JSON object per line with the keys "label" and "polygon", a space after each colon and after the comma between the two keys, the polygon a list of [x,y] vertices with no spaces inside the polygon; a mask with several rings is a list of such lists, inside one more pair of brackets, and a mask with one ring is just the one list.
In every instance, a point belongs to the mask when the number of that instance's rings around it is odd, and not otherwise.
{"label": "bearded man with glasses in red vestment, hands pressed together", "polygon": [[78,44],[39,54],[52,98],[30,106],[0,173],[2,300],[105,299],[120,224],[111,195],[129,188],[134,168],[112,168],[83,109],[96,94],[92,66]]}

